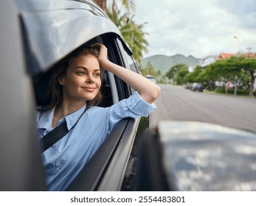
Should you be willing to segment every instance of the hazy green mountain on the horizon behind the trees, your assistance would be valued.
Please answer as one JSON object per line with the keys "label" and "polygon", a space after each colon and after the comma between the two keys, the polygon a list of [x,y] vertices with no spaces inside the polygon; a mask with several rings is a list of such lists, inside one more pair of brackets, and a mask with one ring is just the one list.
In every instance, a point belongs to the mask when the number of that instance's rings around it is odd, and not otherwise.
{"label": "hazy green mountain on the horizon behind the trees", "polygon": [[193,56],[185,57],[182,54],[176,54],[170,57],[165,55],[154,55],[151,57],[146,57],[142,59],[142,68],[146,68],[147,63],[151,62],[154,68],[154,71],[161,71],[162,74],[167,72],[173,65],[184,63],[190,66],[195,66],[199,64],[199,59]]}

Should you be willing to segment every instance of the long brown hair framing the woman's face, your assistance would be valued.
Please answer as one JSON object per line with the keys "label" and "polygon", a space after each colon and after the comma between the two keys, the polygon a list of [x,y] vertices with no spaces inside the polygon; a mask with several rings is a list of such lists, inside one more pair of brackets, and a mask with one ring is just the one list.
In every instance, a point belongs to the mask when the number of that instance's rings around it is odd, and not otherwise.
{"label": "long brown hair framing the woman's face", "polygon": [[[59,84],[58,79],[59,77],[63,77],[66,75],[66,71],[69,68],[69,63],[72,59],[80,57],[80,55],[84,54],[91,54],[94,57],[98,57],[100,53],[100,46],[97,44],[91,45],[91,46],[81,46],[80,48],[76,49],[72,53],[70,53],[67,57],[65,57],[63,60],[61,60],[57,65],[54,66],[52,77],[49,81],[49,96],[51,96],[51,102],[49,106],[46,108],[46,110],[51,110],[55,106],[58,106],[62,100],[63,100],[63,88],[62,85]],[[102,69],[100,69],[102,72]],[[101,76],[101,82],[103,82],[103,75]],[[97,95],[92,100],[86,101],[87,108],[91,106],[97,106],[100,104],[100,101],[102,99],[101,94],[101,88],[97,93]]]}

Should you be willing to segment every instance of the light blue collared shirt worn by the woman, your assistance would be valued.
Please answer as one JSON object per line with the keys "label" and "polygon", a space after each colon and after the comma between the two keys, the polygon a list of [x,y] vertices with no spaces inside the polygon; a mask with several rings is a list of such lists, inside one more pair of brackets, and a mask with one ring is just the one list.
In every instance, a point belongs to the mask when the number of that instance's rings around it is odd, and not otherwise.
{"label": "light blue collared shirt worn by the woman", "polygon": [[[61,118],[58,125],[66,121],[70,129],[85,108],[86,106]],[[155,104],[148,104],[135,91],[128,99],[123,99],[111,107],[91,107],[87,110],[70,132],[42,154],[48,190],[65,190],[118,121],[122,118],[148,116],[154,109]],[[53,113],[54,109],[41,115],[38,112],[39,138],[52,130]]]}

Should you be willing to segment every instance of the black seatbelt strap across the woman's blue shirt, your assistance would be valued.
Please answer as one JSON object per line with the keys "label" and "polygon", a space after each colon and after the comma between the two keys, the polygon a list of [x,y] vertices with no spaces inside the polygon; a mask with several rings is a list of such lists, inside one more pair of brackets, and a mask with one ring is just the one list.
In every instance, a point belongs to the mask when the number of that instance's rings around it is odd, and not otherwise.
{"label": "black seatbelt strap across the woman's blue shirt", "polygon": [[[81,116],[77,119],[77,122],[80,120],[80,118],[83,116],[83,114],[86,112],[86,109],[83,111]],[[73,125],[72,128],[68,129],[66,126],[66,121],[60,124],[58,127],[55,127],[55,129],[52,129],[49,133],[44,135],[41,139],[39,139],[39,142],[43,146],[43,151],[46,151],[50,146],[54,145],[56,142],[58,142],[63,136],[65,136],[70,130],[72,130],[77,122]]]}

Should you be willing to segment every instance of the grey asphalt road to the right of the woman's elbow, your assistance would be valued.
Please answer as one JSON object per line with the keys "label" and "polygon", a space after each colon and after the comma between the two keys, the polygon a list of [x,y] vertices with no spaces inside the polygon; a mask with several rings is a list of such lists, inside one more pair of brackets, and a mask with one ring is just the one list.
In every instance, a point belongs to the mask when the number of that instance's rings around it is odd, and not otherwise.
{"label": "grey asphalt road to the right of the woman's elbow", "polygon": [[160,85],[158,107],[150,127],[159,121],[201,121],[256,132],[256,99],[199,93],[180,86]]}

